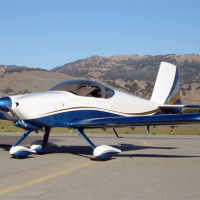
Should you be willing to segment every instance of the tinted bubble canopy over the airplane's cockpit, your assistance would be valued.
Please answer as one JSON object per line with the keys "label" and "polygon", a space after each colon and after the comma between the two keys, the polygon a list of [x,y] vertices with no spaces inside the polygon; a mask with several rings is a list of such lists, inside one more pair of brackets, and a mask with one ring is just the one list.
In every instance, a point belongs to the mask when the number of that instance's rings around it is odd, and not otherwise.
{"label": "tinted bubble canopy over the airplane's cockpit", "polygon": [[49,91],[66,91],[78,96],[109,99],[114,96],[113,89],[91,80],[68,80],[58,83]]}

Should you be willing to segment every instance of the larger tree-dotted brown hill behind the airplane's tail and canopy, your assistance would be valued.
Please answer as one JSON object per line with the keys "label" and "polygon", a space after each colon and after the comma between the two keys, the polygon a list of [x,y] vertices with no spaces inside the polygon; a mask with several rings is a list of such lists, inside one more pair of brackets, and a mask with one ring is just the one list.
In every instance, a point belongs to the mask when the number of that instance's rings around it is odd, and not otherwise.
{"label": "larger tree-dotted brown hill behind the airplane's tail and canopy", "polygon": [[101,80],[107,85],[148,99],[162,61],[178,66],[183,103],[199,104],[200,55],[92,56],[52,71],[77,78]]}

